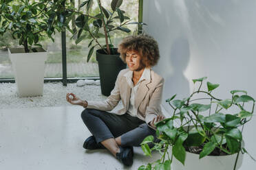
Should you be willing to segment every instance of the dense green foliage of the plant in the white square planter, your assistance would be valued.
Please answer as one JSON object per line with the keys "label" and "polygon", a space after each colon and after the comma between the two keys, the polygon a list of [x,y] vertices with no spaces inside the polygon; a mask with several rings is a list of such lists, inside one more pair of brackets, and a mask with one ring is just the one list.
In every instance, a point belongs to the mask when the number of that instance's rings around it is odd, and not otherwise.
{"label": "dense green foliage of the plant in the white square planter", "polygon": [[60,8],[64,7],[64,0],[0,2],[0,35],[9,30],[14,39],[19,39],[19,45],[23,45],[26,53],[36,50],[32,46],[41,47],[39,40],[43,36],[47,35],[54,41],[52,34],[68,27],[69,21],[65,19],[72,14]]}

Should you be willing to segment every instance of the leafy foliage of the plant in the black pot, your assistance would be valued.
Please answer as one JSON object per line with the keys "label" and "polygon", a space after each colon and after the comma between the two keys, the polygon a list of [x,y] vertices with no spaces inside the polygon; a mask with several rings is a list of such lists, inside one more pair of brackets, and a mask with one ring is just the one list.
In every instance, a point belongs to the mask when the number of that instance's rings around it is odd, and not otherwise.
{"label": "leafy foliage of the plant in the black pot", "polygon": [[[88,45],[90,49],[87,56],[87,62],[91,58],[96,46],[103,49],[106,54],[116,54],[116,51],[113,49],[114,45],[111,36],[109,35],[111,32],[121,31],[129,33],[131,30],[125,27],[125,25],[145,25],[145,23],[131,22],[131,19],[129,19],[128,16],[125,16],[125,11],[120,10],[122,0],[112,0],[111,9],[104,8],[101,1],[96,0],[96,3],[98,4],[98,14],[92,16],[89,13],[93,1],[94,0],[84,1],[79,6],[78,11],[70,10],[73,14],[78,14],[75,21],[77,29],[72,30],[72,33],[74,34],[72,38],[77,38],[76,44],[85,38],[92,39]],[[86,13],[81,12],[81,10],[84,9]],[[83,34],[83,32],[86,34]],[[105,38],[104,45],[98,41],[99,38]]]}

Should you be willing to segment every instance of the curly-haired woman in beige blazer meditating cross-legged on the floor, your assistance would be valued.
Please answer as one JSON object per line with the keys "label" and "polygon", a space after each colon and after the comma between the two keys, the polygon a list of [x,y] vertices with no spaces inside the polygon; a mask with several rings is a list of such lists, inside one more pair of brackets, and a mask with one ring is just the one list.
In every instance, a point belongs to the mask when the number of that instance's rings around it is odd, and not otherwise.
{"label": "curly-haired woman in beige blazer meditating cross-legged on the floor", "polygon": [[[107,148],[124,165],[131,166],[133,147],[140,146],[149,135],[156,138],[154,124],[164,119],[160,108],[164,79],[151,70],[160,57],[151,36],[128,36],[118,45],[118,51],[129,69],[120,71],[105,101],[81,100],[73,93],[67,93],[67,101],[85,108],[81,117],[93,136],[83,147]],[[107,112],[119,101],[123,108],[115,114]]]}

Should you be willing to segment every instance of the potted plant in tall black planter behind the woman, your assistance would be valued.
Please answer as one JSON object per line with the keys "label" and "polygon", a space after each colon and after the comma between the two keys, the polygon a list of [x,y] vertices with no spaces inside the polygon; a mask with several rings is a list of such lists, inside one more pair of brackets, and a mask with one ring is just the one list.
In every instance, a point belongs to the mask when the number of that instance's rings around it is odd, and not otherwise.
{"label": "potted plant in tall black planter behind the woman", "polygon": [[[100,86],[103,95],[110,95],[111,90],[114,88],[116,77],[120,70],[126,68],[126,64],[119,58],[119,53],[113,45],[109,33],[114,31],[131,32],[130,29],[124,27],[128,24],[143,25],[144,23],[131,22],[128,16],[125,16],[125,11],[120,10],[122,0],[112,0],[111,10],[104,8],[100,0],[97,0],[98,14],[92,16],[89,14],[92,8],[93,0],[87,0],[81,3],[76,18],[76,26],[78,29],[74,32],[76,36],[76,44],[81,42],[84,38],[91,38],[88,47],[89,53],[87,55],[87,62],[92,56],[94,49],[96,50],[96,60],[98,61],[100,73]],[[87,8],[87,13],[79,12],[80,8]],[[144,24],[145,25],[145,24]],[[89,33],[88,35],[82,34],[83,32]],[[98,40],[105,38],[103,44]]]}

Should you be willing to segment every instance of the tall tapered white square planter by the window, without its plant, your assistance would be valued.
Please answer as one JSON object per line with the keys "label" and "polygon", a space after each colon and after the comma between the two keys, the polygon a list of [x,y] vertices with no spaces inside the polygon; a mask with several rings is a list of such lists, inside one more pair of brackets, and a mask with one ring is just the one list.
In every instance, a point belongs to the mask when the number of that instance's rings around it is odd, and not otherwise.
{"label": "tall tapered white square planter by the window, without its plant", "polygon": [[8,49],[19,97],[43,95],[47,52],[42,48],[36,49],[39,52],[24,53],[23,48]]}

